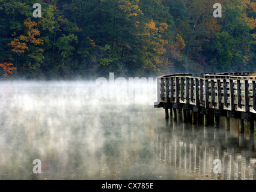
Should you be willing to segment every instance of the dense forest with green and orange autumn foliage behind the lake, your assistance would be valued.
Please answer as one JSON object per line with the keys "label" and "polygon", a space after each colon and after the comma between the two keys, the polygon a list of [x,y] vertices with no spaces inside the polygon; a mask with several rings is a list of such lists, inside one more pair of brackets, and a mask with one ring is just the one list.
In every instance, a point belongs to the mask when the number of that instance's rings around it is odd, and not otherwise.
{"label": "dense forest with green and orange autumn foliage behind the lake", "polygon": [[0,78],[256,71],[255,18],[255,0],[0,0]]}

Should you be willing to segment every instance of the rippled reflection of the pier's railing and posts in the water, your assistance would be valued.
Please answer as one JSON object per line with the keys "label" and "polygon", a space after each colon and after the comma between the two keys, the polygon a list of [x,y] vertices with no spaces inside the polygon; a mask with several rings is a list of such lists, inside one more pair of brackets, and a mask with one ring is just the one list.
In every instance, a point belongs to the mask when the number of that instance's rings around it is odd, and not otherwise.
{"label": "rippled reflection of the pier's railing and posts in the water", "polygon": [[[232,119],[225,130],[225,118],[216,128],[200,122],[190,124],[165,120],[165,127],[156,130],[157,159],[166,166],[184,170],[194,179],[255,180],[256,152],[252,130],[239,133],[239,120]],[[221,160],[221,173],[213,171]]]}

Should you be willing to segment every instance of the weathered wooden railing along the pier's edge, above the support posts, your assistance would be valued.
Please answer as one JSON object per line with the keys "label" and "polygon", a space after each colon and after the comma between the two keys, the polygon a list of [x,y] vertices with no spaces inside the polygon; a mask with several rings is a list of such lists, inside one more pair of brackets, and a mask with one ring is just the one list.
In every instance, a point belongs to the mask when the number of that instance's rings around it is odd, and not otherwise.
{"label": "weathered wooden railing along the pier's edge, above the support posts", "polygon": [[252,72],[171,74],[157,77],[157,103],[256,113],[256,77]]}

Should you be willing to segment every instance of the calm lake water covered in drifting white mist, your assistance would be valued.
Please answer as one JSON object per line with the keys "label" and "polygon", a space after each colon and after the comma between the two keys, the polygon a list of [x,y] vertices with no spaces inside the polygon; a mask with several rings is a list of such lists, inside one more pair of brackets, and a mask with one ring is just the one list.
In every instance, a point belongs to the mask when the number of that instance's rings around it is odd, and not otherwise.
{"label": "calm lake water covered in drifting white mist", "polygon": [[166,122],[152,95],[103,99],[81,81],[1,82],[0,91],[0,179],[255,179],[251,136],[241,145],[235,125],[227,137]]}

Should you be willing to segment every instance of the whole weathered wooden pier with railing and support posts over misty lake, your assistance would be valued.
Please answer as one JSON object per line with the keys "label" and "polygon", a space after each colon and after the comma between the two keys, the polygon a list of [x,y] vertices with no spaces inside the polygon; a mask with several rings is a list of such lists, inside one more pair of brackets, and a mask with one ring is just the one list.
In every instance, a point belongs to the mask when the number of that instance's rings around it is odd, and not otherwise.
{"label": "whole weathered wooden pier with railing and support posts over misty lake", "polygon": [[[254,74],[254,75],[252,75]],[[213,74],[170,74],[157,77],[157,103],[165,109],[165,118],[183,122],[192,116],[192,124],[202,120],[209,124],[213,116],[215,127],[219,117],[240,119],[240,133],[251,127],[256,135],[256,76],[254,72]],[[178,114],[177,114],[178,113]],[[182,114],[180,114],[182,113]]]}

